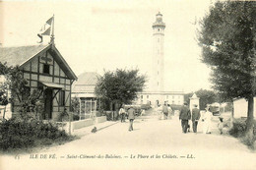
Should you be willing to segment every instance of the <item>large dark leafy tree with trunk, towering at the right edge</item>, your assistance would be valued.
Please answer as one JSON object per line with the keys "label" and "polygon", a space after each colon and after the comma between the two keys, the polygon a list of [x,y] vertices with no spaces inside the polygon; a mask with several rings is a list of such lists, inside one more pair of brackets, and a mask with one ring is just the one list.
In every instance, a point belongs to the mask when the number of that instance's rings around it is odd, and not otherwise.
{"label": "large dark leafy tree with trunk, towering at the right edge", "polygon": [[212,82],[224,99],[248,100],[246,136],[253,135],[255,96],[256,2],[216,2],[201,21],[202,61],[212,69]]}

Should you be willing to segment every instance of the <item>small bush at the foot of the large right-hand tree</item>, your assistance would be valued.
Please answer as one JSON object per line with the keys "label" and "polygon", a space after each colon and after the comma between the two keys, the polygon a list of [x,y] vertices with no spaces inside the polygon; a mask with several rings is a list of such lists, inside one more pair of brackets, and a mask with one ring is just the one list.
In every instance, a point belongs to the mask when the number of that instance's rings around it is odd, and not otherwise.
{"label": "small bush at the foot of the large right-hand tree", "polygon": [[246,120],[245,119],[234,119],[233,127],[229,131],[229,134],[235,138],[239,138],[244,144],[254,148],[256,142],[256,120],[254,120],[253,128],[253,139],[249,139],[245,136],[246,133]]}

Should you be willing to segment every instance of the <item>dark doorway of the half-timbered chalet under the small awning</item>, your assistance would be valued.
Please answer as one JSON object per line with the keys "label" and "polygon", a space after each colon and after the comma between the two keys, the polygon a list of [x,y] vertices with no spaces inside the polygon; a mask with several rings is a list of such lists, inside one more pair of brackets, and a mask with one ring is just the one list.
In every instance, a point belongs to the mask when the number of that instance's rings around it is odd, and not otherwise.
{"label": "dark doorway of the half-timbered chalet under the small awning", "polygon": [[44,100],[44,116],[43,119],[52,118],[52,89],[45,89],[45,100]]}

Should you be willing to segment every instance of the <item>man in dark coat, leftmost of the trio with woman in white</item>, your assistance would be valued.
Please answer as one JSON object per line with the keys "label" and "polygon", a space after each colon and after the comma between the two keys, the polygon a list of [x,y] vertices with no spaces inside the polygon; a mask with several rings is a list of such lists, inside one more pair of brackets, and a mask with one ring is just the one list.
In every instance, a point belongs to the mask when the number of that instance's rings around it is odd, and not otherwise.
{"label": "man in dark coat, leftmost of the trio with woman in white", "polygon": [[191,119],[190,110],[187,106],[187,103],[184,102],[184,105],[180,109],[179,120],[181,120],[182,132],[185,133],[185,134],[187,133],[188,121],[190,119]]}

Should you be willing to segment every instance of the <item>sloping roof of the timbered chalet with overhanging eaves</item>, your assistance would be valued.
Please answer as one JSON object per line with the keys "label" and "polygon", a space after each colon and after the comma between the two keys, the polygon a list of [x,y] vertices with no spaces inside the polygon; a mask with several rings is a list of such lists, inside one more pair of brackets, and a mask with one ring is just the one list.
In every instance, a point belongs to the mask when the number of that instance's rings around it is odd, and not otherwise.
{"label": "sloping roof of the timbered chalet with overhanging eaves", "polygon": [[49,50],[53,54],[55,61],[61,67],[63,72],[71,80],[77,80],[77,76],[71,70],[65,59],[62,57],[54,44],[48,45],[31,45],[19,47],[0,47],[0,62],[7,63],[7,66],[19,66],[29,62],[35,55],[42,51]]}

